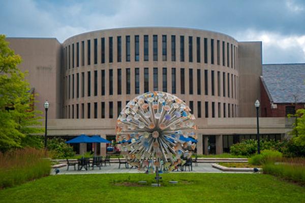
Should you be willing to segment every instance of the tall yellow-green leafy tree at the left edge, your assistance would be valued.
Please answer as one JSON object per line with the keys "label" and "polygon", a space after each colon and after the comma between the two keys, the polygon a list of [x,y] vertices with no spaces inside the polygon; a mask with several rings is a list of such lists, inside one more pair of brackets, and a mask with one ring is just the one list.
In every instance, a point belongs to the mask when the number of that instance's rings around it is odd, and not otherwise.
{"label": "tall yellow-green leafy tree at the left edge", "polygon": [[0,35],[0,151],[31,145],[28,136],[43,132],[34,109],[34,94],[17,65],[21,57],[8,47],[5,36]]}

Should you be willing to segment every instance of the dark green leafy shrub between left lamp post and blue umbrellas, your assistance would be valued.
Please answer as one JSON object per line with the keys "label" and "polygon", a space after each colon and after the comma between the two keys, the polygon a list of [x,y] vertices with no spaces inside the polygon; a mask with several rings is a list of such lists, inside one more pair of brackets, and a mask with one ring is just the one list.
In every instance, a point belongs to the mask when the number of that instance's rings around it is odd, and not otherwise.
{"label": "dark green leafy shrub between left lamp post and blue umbrellas", "polygon": [[73,147],[61,138],[49,139],[47,147],[52,159],[72,158],[75,156]]}

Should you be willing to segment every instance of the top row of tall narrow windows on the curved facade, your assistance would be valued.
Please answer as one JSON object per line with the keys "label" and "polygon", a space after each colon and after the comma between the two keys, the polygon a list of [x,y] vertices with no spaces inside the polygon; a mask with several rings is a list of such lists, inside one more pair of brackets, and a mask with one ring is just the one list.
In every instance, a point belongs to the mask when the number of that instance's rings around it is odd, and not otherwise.
{"label": "top row of tall narrow windows on the curved facade", "polygon": [[[135,35],[134,37],[134,61],[140,61],[140,36]],[[151,36],[150,36],[151,37]],[[153,54],[151,55],[153,57],[153,61],[158,61],[158,40],[160,36],[153,35]],[[162,35],[162,61],[168,61],[167,57],[167,35]],[[125,60],[126,62],[131,61],[131,36],[125,36]],[[188,50],[189,55],[188,59],[189,62],[194,62],[193,59],[195,58],[193,56],[193,36],[189,36],[188,38]],[[149,61],[149,36],[144,35],[143,36],[143,61]],[[201,38],[196,37],[196,62],[201,62]],[[98,41],[100,43],[98,44]],[[209,41],[209,42],[208,42]],[[85,45],[86,43],[86,45]],[[68,45],[64,48],[65,53],[65,66],[66,69],[71,69],[76,67],[84,66],[85,65],[85,46],[86,48],[86,65],[90,65],[92,63],[91,61],[91,52],[94,53],[94,64],[98,64],[98,61],[100,60],[100,63],[105,63],[106,61],[106,51],[105,50],[105,43],[106,38],[100,38],[100,39],[94,39],[93,40],[93,50],[91,48],[92,40],[87,41],[81,41],[80,43],[77,42],[72,45]],[[185,61],[185,36],[179,36],[179,61]],[[209,52],[208,52],[208,46],[209,46]],[[101,56],[98,60],[98,47],[101,49]],[[113,56],[115,55],[113,53],[113,37],[108,38],[108,62],[113,62]],[[215,53],[216,50],[216,53]],[[122,61],[122,37],[117,36],[116,37],[116,61],[121,62]],[[75,53],[76,52],[76,53]],[[236,69],[236,60],[237,60],[237,46],[226,43],[224,41],[220,40],[214,40],[214,39],[208,39],[203,38],[203,61],[204,63],[208,63],[208,58],[210,60],[211,64],[221,65],[221,56],[222,56],[222,65],[223,66],[230,66],[234,67]],[[176,36],[171,35],[170,36],[170,60],[176,61]],[[216,54],[216,57],[215,57]],[[150,57],[151,57],[150,56]],[[76,63],[75,63],[76,62]]]}

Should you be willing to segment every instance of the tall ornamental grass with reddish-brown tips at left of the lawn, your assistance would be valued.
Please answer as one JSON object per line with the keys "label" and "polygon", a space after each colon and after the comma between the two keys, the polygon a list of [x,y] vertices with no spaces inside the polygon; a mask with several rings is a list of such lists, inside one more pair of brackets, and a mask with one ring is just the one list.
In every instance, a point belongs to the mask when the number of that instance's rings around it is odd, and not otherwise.
{"label": "tall ornamental grass with reddish-brown tips at left of the lawn", "polygon": [[51,162],[45,151],[24,148],[6,153],[0,152],[0,189],[48,176]]}

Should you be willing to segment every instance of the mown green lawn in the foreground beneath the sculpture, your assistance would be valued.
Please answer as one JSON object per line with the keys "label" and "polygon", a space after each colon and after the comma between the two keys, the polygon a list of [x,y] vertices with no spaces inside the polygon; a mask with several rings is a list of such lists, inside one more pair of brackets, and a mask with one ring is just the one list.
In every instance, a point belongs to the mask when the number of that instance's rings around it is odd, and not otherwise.
{"label": "mown green lawn in the foreground beneath the sculpture", "polygon": [[[56,175],[0,190],[0,202],[304,202],[305,188],[264,174]],[[139,180],[148,181],[139,186]],[[179,181],[170,185],[168,181]],[[132,186],[126,186],[132,185]]]}

